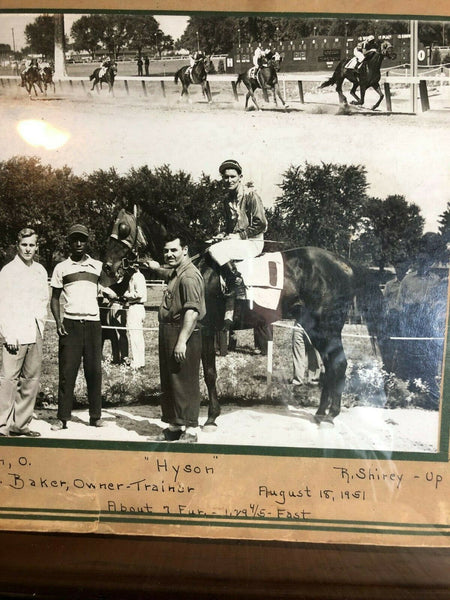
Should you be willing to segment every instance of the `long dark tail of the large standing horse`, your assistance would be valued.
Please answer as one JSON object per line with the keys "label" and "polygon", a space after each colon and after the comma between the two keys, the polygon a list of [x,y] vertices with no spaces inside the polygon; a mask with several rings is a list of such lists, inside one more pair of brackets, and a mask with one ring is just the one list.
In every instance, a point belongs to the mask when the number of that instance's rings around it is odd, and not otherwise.
{"label": "long dark tail of the large standing horse", "polygon": [[358,311],[364,317],[372,348],[376,352],[375,340],[382,341],[384,326],[384,296],[380,288],[378,271],[371,271],[365,267],[355,267],[356,276],[356,304]]}

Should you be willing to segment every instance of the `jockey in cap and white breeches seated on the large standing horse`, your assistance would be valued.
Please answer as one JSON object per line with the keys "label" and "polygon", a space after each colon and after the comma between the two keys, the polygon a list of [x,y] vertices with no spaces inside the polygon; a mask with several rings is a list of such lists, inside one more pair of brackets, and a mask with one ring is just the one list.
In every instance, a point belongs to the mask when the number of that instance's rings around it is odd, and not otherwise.
{"label": "jockey in cap and white breeches seated on the large standing horse", "polygon": [[[236,160],[225,160],[219,167],[224,187],[225,231],[215,236],[214,243],[208,249],[211,258],[220,266],[220,271],[228,288],[228,297],[233,300],[245,299],[245,286],[234,260],[254,258],[261,254],[264,247],[264,232],[267,220],[259,195],[253,190],[245,190],[242,184],[242,167]],[[225,315],[226,321],[232,321],[231,314]]]}

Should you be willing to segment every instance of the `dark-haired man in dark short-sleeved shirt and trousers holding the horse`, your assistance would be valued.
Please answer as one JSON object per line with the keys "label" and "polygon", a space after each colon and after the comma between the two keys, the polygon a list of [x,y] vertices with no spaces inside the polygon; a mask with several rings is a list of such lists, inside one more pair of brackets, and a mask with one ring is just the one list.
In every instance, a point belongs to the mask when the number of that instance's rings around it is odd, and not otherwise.
{"label": "dark-haired man in dark short-sleeved shirt and trousers holding the horse", "polygon": [[158,271],[167,281],[158,314],[159,367],[162,420],[169,426],[162,440],[196,442],[202,351],[198,322],[206,313],[204,282],[180,236],[166,238],[164,259],[169,268]]}

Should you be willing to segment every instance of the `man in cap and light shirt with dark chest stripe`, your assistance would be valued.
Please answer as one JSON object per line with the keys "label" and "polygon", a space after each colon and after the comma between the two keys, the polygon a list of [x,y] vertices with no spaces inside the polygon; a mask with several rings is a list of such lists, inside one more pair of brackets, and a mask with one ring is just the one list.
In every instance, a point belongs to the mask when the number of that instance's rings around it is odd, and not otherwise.
{"label": "man in cap and light shirt with dark chest stripe", "polygon": [[[53,431],[67,428],[71,418],[74,387],[83,359],[86,378],[89,425],[101,427],[102,333],[97,302],[102,263],[86,253],[89,232],[73,225],[68,232],[70,256],[58,263],[50,285],[50,307],[59,336],[58,421]],[[102,290],[105,293],[105,290]],[[60,297],[65,300],[61,318]]]}

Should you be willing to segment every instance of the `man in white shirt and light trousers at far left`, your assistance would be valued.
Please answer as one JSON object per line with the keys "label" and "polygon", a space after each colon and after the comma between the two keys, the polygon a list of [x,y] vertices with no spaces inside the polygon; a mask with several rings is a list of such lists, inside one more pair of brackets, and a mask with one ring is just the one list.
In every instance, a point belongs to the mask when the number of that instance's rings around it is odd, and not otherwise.
{"label": "man in white shirt and light trousers at far left", "polygon": [[29,423],[39,391],[42,336],[48,284],[44,267],[34,261],[38,238],[22,229],[17,256],[0,271],[0,330],[4,338],[0,373],[0,436],[39,437]]}

